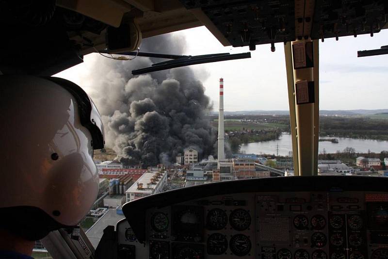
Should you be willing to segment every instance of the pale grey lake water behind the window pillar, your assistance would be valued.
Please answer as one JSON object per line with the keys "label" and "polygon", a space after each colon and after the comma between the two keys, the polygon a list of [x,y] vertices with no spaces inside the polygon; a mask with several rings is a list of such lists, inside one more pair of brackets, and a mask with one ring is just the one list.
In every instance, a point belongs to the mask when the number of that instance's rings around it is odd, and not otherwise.
{"label": "pale grey lake water behind the window pillar", "polygon": [[[321,137],[324,138],[324,137]],[[351,139],[351,138],[337,138],[339,143],[331,143],[329,141],[319,142],[319,153],[323,148],[326,153],[336,153],[337,150],[342,151],[345,147],[353,147],[356,152],[371,152],[380,153],[383,150],[388,150],[388,141],[378,141],[370,139]],[[288,156],[289,151],[292,151],[292,142],[290,134],[282,134],[280,139],[255,142],[241,145],[241,151],[246,154],[276,154],[276,146],[279,145],[279,155]]]}

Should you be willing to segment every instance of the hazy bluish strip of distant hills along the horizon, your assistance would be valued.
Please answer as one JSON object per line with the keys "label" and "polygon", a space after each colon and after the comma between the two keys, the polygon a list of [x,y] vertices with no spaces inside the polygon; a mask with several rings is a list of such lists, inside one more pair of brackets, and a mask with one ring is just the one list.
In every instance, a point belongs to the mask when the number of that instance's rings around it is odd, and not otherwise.
{"label": "hazy bluish strip of distant hills along the horizon", "polygon": [[[320,115],[372,115],[372,114],[386,114],[388,109],[378,109],[378,110],[321,110],[319,111]],[[213,111],[210,115],[216,115],[218,111]],[[225,115],[288,115],[289,111],[237,111],[237,112],[224,112]]]}

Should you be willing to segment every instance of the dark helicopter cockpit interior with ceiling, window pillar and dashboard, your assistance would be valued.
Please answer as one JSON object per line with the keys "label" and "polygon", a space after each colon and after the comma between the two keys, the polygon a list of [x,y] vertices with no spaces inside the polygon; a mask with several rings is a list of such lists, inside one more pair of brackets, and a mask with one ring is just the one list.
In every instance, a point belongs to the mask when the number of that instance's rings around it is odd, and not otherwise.
{"label": "dark helicopter cockpit interior with ceiling, window pillar and dashboard", "polygon": [[388,259],[388,178],[317,176],[319,44],[361,34],[372,41],[388,28],[387,0],[1,1],[0,14],[4,75],[49,77],[93,52],[170,60],[133,75],[250,57],[139,49],[142,39],[198,26],[223,46],[284,51],[286,74],[279,76],[287,78],[294,177],[222,181],[130,201],[96,249],[80,227],[50,233],[45,246],[53,258]]}

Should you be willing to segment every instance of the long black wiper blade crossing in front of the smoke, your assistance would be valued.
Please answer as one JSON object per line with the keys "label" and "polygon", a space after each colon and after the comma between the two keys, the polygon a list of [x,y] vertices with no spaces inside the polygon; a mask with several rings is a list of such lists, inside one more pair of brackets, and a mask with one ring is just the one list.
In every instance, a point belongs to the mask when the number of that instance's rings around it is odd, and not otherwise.
{"label": "long black wiper blade crossing in front of the smoke", "polygon": [[149,67],[132,70],[132,75],[141,75],[145,73],[171,69],[187,65],[197,65],[204,63],[220,62],[226,60],[246,59],[251,57],[251,52],[229,54],[229,53],[216,53],[208,55],[198,56],[185,56],[175,60],[164,61],[161,63],[152,64]]}

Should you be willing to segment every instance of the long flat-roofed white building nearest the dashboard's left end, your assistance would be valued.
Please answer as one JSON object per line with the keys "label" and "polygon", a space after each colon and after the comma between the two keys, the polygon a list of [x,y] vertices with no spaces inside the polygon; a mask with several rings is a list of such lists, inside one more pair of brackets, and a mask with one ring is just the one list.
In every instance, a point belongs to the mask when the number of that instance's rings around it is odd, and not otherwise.
{"label": "long flat-roofed white building nearest the dashboard's left end", "polygon": [[166,182],[167,171],[146,172],[125,192],[126,201],[129,202],[151,194],[160,193],[163,191]]}

